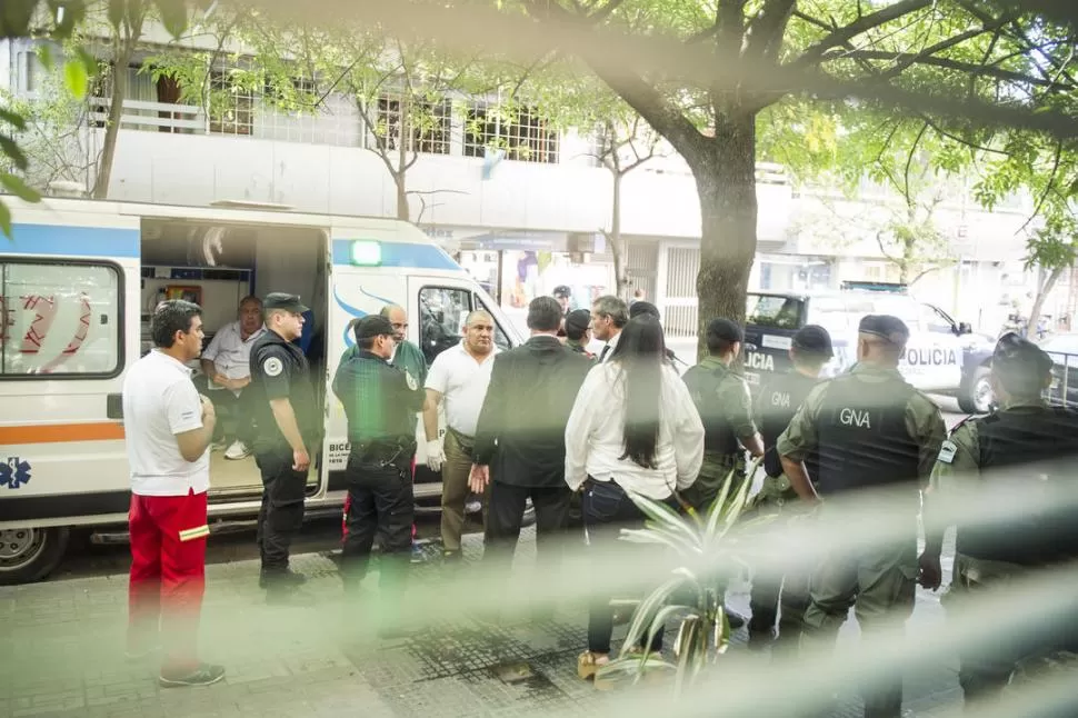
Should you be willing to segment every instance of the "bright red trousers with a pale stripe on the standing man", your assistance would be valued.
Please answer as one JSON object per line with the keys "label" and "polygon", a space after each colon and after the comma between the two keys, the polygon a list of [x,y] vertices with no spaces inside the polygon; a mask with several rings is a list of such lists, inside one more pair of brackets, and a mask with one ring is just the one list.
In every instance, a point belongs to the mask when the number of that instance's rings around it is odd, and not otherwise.
{"label": "bright red trousers with a pale stripe on the standing man", "polygon": [[206,493],[131,496],[128,650],[160,641],[161,672],[198,665],[198,625],[206,588]]}

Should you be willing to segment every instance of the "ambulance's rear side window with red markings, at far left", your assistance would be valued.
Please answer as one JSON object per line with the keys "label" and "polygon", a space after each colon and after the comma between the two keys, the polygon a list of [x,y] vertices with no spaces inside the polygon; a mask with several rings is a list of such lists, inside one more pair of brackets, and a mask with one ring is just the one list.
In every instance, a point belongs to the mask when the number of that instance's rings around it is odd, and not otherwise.
{"label": "ambulance's rear side window with red markings, at far left", "polygon": [[100,377],[121,369],[119,268],[2,265],[0,373]]}

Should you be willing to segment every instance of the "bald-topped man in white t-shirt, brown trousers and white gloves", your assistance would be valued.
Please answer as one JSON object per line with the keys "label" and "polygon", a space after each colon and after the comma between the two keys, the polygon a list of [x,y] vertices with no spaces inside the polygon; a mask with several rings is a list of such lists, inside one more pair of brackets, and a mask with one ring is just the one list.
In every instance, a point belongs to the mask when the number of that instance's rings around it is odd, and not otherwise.
{"label": "bald-topped man in white t-shirt, brown trousers and white gloves", "polygon": [[[423,405],[427,466],[431,471],[441,469],[441,540],[446,560],[460,558],[476,427],[498,353],[493,336],[493,317],[486,311],[471,312],[465,322],[463,338],[438,355],[427,373],[427,401]],[[443,400],[445,447],[438,440],[438,406]],[[482,501],[486,515],[486,495]],[[486,516],[483,518],[486,522]]]}

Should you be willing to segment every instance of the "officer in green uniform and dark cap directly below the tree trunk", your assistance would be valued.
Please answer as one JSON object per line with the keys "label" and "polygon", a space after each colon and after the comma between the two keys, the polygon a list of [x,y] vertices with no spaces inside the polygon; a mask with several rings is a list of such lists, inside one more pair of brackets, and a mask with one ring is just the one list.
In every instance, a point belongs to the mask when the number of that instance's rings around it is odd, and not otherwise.
{"label": "officer in green uniform and dark cap directly below the tree trunk", "polygon": [[690,367],[682,379],[703,421],[703,467],[700,477],[686,489],[682,498],[697,511],[706,511],[732,470],[736,492],[745,481],[745,452],[763,456],[763,443],[752,418],[752,398],[745,378],[730,365],[741,352],[741,328],[729,319],[713,319],[708,325],[710,356]]}

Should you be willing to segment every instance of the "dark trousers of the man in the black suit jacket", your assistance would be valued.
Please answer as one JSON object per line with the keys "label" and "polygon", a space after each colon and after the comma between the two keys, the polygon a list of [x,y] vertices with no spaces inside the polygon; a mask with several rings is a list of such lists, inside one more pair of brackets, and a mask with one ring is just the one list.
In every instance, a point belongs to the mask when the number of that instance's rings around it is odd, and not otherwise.
{"label": "dark trousers of the man in the black suit jacket", "polygon": [[572,491],[565,483],[540,488],[491,481],[483,561],[499,571],[509,572],[529,498],[536,509],[536,562],[542,576],[555,580],[572,500]]}

